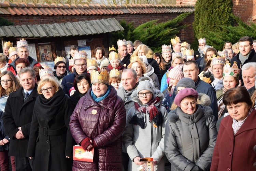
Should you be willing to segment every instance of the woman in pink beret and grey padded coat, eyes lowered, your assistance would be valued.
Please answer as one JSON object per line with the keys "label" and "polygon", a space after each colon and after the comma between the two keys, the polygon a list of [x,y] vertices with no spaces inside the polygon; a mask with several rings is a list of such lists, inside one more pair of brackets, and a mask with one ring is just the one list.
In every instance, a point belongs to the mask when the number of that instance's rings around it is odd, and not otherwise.
{"label": "woman in pink beret and grey padded coat, eyes lowered", "polygon": [[171,170],[210,170],[217,138],[216,119],[209,106],[196,104],[198,93],[192,88],[179,91],[178,105],[168,115],[165,154]]}

